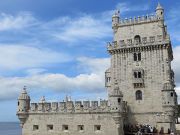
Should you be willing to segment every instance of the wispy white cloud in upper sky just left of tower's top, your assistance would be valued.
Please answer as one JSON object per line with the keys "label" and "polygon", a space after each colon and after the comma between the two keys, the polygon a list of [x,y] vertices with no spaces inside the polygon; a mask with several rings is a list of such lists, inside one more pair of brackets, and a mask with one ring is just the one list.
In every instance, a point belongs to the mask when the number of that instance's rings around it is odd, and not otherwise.
{"label": "wispy white cloud in upper sky just left of tower's top", "polygon": [[[61,24],[64,18],[59,19],[60,21],[56,20],[56,22]],[[107,23],[107,20],[103,20],[102,16],[95,18],[90,15],[84,15],[75,19],[66,18],[63,28],[54,32],[53,36],[61,41],[74,43],[84,40],[103,39],[109,37],[111,32],[109,23]]]}

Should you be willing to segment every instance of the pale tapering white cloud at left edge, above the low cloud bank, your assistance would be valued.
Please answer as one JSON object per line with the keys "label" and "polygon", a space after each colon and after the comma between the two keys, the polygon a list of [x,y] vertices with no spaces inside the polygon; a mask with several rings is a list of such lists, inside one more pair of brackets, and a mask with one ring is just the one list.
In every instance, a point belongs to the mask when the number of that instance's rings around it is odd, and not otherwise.
{"label": "pale tapering white cloud at left edge, above the low cloud bank", "polygon": [[18,70],[37,68],[53,63],[71,60],[67,54],[47,48],[35,48],[23,45],[0,45],[0,69]]}

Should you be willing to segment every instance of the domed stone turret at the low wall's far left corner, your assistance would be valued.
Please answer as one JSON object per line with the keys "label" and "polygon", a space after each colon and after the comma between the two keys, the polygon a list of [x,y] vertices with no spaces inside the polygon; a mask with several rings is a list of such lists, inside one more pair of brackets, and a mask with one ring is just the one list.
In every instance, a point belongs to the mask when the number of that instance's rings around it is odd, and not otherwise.
{"label": "domed stone turret at the low wall's far left corner", "polygon": [[28,117],[29,109],[30,109],[30,97],[26,92],[26,87],[24,86],[20,96],[18,97],[18,107],[17,107],[17,116],[20,120],[22,127]]}

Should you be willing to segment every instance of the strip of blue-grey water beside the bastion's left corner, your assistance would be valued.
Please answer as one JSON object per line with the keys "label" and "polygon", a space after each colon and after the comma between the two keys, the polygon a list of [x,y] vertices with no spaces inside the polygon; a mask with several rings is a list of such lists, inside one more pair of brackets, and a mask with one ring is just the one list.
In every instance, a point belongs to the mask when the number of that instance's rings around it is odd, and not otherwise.
{"label": "strip of blue-grey water beside the bastion's left corner", "polygon": [[0,135],[21,135],[18,122],[0,122]]}

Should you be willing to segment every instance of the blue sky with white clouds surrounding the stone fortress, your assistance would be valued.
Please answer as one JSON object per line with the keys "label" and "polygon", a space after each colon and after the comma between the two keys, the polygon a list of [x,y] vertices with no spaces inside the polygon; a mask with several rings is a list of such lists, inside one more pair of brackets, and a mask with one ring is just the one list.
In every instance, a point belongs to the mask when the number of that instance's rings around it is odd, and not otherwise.
{"label": "blue sky with white clouds surrounding the stone fortress", "polygon": [[[180,95],[180,1],[159,0],[173,44]],[[156,0],[0,1],[0,121],[18,121],[17,97],[27,86],[32,102],[106,98],[111,16],[152,14]]]}

